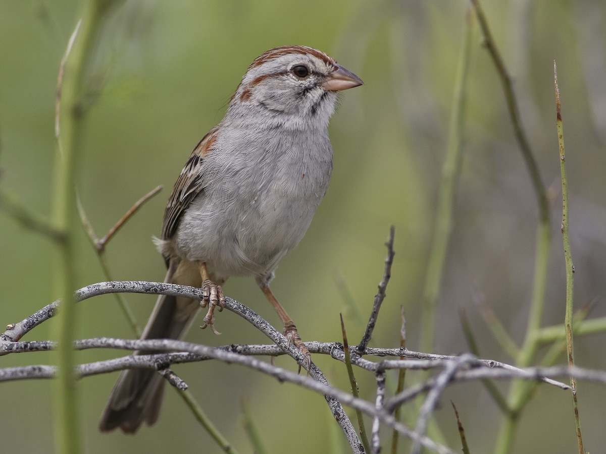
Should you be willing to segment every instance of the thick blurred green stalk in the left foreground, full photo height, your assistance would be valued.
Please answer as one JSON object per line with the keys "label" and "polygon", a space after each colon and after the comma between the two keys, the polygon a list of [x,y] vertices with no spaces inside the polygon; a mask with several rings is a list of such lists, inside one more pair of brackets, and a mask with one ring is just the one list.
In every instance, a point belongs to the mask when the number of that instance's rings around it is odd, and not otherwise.
{"label": "thick blurred green stalk in the left foreground, full photo height", "polygon": [[76,215],[75,176],[81,153],[85,119],[85,71],[92,55],[102,18],[110,7],[108,1],[88,1],[76,31],[70,39],[71,50],[65,54],[64,76],[58,84],[58,153],[55,159],[52,224],[64,239],[58,243],[55,269],[55,292],[62,304],[55,328],[59,340],[59,373],[55,393],[55,451],[61,454],[82,452],[81,433],[74,373],[76,320],[73,291],[76,289],[75,237],[79,232]]}

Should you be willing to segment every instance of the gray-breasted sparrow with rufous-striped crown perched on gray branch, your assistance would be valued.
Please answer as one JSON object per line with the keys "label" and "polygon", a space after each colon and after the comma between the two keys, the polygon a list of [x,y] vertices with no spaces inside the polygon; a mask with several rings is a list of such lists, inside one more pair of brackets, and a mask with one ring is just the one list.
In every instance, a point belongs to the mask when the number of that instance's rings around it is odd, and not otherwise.
{"label": "gray-breasted sparrow with rufous-striped crown perched on gray branch", "polygon": [[[310,47],[276,47],[252,62],[225,117],[185,163],[156,240],[168,266],[165,282],[202,288],[204,300],[161,295],[143,339],[182,338],[201,306],[208,307],[202,327],[218,334],[221,285],[230,276],[253,276],[309,366],[310,353],[269,283],[328,188],[328,120],[338,91],[358,85],[358,76]],[[153,370],[124,370],[99,428],[134,433],[144,421],[154,424],[164,381]]]}

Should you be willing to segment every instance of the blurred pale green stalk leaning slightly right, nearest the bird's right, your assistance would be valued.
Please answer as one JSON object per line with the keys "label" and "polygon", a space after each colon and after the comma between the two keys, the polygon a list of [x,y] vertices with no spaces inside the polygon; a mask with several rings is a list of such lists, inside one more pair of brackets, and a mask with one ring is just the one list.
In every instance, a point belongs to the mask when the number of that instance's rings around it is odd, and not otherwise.
{"label": "blurred pale green stalk leaning slightly right, nearest the bird's right", "polygon": [[427,266],[427,277],[423,291],[423,306],[421,314],[421,350],[434,351],[436,306],[444,275],[444,263],[448,252],[450,230],[453,223],[454,189],[461,168],[462,141],[465,120],[465,85],[469,68],[471,36],[473,21],[467,13],[465,33],[459,56],[456,79],[454,81],[453,105],[450,113],[448,145],[444,164],[442,165],[442,181],[438,196],[438,212],[436,213],[436,228],[431,241],[431,252]]}

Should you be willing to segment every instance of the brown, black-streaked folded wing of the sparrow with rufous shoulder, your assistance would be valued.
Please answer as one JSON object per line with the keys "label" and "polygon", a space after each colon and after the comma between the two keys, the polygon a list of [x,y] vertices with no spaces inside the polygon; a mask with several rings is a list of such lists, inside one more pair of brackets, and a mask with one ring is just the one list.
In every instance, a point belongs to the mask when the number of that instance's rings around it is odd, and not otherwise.
{"label": "brown, black-streaked folded wing of the sparrow with rufous shoulder", "polygon": [[170,239],[179,226],[181,216],[191,203],[191,200],[204,188],[202,181],[202,161],[210,153],[217,138],[216,127],[208,131],[191,152],[190,159],[175,182],[173,192],[170,194],[166,209],[164,210],[164,223],[162,224],[162,240]]}

